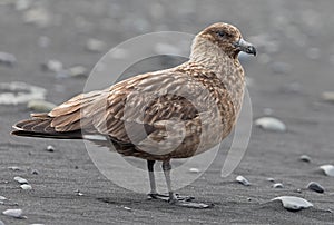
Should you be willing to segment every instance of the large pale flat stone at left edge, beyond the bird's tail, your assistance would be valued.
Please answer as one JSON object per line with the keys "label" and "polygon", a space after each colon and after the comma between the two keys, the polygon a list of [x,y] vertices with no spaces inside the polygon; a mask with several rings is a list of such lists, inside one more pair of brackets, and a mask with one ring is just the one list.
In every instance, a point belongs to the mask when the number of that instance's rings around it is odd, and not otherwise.
{"label": "large pale flat stone at left edge, beyond the bird's tail", "polygon": [[0,82],[0,105],[27,104],[33,99],[45,99],[47,90],[26,82]]}

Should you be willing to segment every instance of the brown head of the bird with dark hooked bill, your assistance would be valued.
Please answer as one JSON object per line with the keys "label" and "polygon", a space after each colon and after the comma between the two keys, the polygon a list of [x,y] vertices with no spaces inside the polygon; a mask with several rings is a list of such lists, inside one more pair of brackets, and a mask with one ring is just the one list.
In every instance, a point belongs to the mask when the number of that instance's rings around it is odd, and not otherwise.
{"label": "brown head of the bird with dark hooked bill", "polygon": [[218,22],[207,27],[196,36],[193,47],[196,48],[196,43],[200,46],[207,41],[232,58],[237,58],[240,51],[256,56],[255,47],[243,39],[236,27],[228,23]]}

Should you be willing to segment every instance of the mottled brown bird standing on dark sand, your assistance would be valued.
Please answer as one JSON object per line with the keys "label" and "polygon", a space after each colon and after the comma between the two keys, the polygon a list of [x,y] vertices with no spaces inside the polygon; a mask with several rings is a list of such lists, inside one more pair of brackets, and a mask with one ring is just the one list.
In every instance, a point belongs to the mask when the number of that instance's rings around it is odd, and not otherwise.
{"label": "mottled brown bird standing on dark sand", "polygon": [[[187,62],[78,95],[50,113],[19,121],[12,134],[112,145],[124,156],[147,160],[151,198],[208,207],[173,192],[170,159],[206,151],[234,128],[245,88],[240,51],[256,55],[237,28],[214,23],[196,36]],[[163,162],[167,196],[156,192],[156,160]]]}

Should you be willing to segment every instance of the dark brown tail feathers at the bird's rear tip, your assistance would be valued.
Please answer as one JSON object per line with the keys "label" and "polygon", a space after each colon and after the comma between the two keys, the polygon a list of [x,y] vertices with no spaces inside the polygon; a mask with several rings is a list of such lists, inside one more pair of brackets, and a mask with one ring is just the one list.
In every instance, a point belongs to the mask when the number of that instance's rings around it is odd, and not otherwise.
{"label": "dark brown tail feathers at the bird's rear tip", "polygon": [[52,118],[38,115],[31,119],[19,121],[13,126],[12,135],[24,137],[81,139],[81,130],[59,133],[51,127]]}

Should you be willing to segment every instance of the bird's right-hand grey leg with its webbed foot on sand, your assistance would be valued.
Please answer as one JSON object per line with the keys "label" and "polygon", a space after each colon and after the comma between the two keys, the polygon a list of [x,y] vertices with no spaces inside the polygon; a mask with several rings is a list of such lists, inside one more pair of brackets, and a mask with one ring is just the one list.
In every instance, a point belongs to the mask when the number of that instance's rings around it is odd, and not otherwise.
{"label": "bird's right-hand grey leg with its webbed foot on sand", "polygon": [[165,174],[168,195],[169,195],[168,203],[178,205],[178,206],[190,207],[190,208],[208,208],[212,206],[212,205],[207,205],[207,204],[203,204],[203,203],[191,203],[189,200],[193,200],[194,197],[188,197],[188,196],[181,197],[179,195],[176,195],[173,192],[171,179],[170,179],[171,165],[170,165],[169,160],[163,162],[163,170]]}

